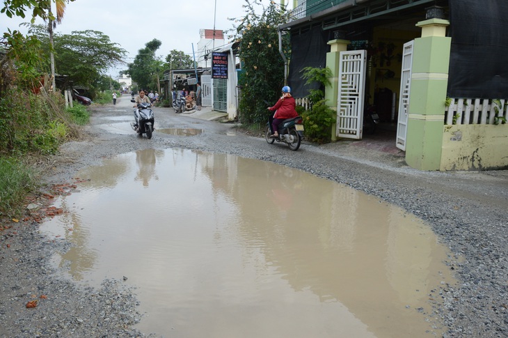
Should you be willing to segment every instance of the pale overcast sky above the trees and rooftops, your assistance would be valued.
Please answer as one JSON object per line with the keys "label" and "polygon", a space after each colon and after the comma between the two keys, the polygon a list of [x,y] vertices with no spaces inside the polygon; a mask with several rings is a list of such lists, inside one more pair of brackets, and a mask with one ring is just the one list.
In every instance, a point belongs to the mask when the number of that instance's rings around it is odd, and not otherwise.
{"label": "pale overcast sky above the trees and rooftops", "polygon": [[[156,52],[163,59],[173,49],[180,50],[193,57],[200,40],[200,29],[226,31],[232,29],[233,22],[228,18],[241,18],[246,15],[242,6],[244,0],[150,0],[145,1],[110,1],[110,0],[75,0],[68,3],[61,24],[56,26],[57,33],[70,34],[72,31],[91,29],[101,31],[109,36],[112,43],[118,43],[127,51],[124,60],[131,63],[138,50],[145,43],[157,38],[162,42]],[[268,0],[262,0],[267,5]],[[26,13],[27,15],[31,14]],[[0,14],[0,33],[7,29],[18,29],[26,33],[26,28],[19,27],[30,18],[10,19]],[[35,24],[42,24],[37,20]],[[127,66],[118,66],[109,70],[109,75],[117,77],[120,70]]]}

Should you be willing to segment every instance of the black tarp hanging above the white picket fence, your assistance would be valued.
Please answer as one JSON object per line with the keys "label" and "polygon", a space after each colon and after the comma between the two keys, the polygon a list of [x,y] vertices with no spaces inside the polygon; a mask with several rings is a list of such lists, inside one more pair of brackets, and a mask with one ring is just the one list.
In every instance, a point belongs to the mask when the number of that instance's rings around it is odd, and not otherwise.
{"label": "black tarp hanging above the white picket fence", "polygon": [[508,1],[450,0],[450,98],[508,97]]}

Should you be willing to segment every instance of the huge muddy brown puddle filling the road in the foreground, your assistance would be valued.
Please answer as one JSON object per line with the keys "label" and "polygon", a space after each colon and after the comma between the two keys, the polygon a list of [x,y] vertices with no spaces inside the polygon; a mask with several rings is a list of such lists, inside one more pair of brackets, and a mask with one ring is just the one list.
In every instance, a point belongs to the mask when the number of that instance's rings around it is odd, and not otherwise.
{"label": "huge muddy brown puddle filling the road in the foreground", "polygon": [[[445,248],[412,215],[277,164],[168,149],[81,172],[42,224],[69,275],[138,286],[164,337],[429,337]],[[433,328],[434,325],[434,328]]]}

